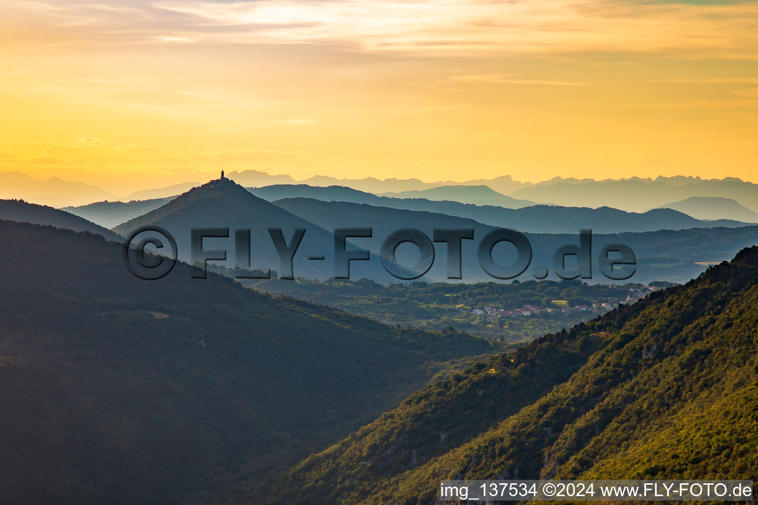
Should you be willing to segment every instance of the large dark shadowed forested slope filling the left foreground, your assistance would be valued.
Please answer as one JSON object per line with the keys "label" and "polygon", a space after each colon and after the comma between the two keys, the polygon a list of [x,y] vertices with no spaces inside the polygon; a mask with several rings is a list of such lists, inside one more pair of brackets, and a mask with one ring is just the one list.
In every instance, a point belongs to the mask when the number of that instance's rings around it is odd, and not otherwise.
{"label": "large dark shadowed forested slope filling the left foreground", "polygon": [[221,500],[396,406],[441,362],[493,351],[192,279],[185,263],[143,281],[99,235],[0,221],[0,236],[8,505]]}

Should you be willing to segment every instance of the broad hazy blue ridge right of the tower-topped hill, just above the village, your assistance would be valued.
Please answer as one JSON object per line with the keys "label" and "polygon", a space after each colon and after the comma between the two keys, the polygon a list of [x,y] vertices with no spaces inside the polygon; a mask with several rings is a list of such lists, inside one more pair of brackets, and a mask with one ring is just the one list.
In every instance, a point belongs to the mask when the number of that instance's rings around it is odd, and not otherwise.
{"label": "broad hazy blue ridge right of the tower-topped hill, just above the village", "polygon": [[[402,200],[401,200],[402,201]],[[352,226],[371,226],[374,228],[374,238],[362,239],[364,247],[377,251],[381,242],[391,232],[402,228],[421,230],[430,238],[434,229],[474,229],[473,240],[462,241],[462,272],[465,282],[493,281],[492,277],[482,270],[477,260],[477,248],[487,233],[496,228],[468,218],[449,216],[439,212],[422,210],[390,209],[368,204],[353,204],[340,201],[318,201],[312,198],[284,198],[274,202],[292,214],[309,216],[319,226],[327,229]],[[449,203],[449,202],[440,202]],[[502,208],[502,207],[500,207]],[[511,212],[526,211],[509,210]],[[553,207],[547,207],[552,209]],[[587,209],[592,211],[592,209]],[[622,211],[616,211],[622,212]],[[657,211],[656,211],[657,212]],[[663,214],[675,213],[691,217],[674,210],[662,210]],[[655,214],[655,213],[653,213]],[[556,214],[551,214],[558,219]],[[590,221],[591,226],[592,221]],[[531,243],[531,267],[518,279],[534,279],[533,270],[545,267],[550,272],[550,279],[557,279],[553,272],[553,253],[565,244],[578,245],[578,232],[583,223],[576,223],[571,233],[529,233],[525,232]],[[705,225],[700,226],[707,226]],[[506,227],[507,223],[506,223]],[[512,226],[518,229],[517,226]],[[522,231],[519,229],[519,231]],[[651,232],[622,232],[599,233],[593,229],[592,260],[594,273],[592,282],[613,282],[600,275],[597,268],[597,255],[608,244],[625,244],[632,248],[637,257],[637,270],[629,282],[649,282],[666,280],[671,282],[687,282],[706,269],[707,263],[720,262],[733,257],[741,248],[758,243],[758,226],[741,226],[737,228],[713,227],[691,228],[681,230],[658,230]],[[703,244],[711,244],[703,248]],[[413,246],[409,246],[412,248]],[[436,258],[427,276],[421,280],[446,280],[446,245],[435,245]],[[398,249],[399,251],[399,249]],[[418,253],[416,253],[418,255]],[[502,245],[493,249],[493,257],[503,265],[509,265],[515,260],[515,248]],[[407,257],[412,261],[412,254]]]}

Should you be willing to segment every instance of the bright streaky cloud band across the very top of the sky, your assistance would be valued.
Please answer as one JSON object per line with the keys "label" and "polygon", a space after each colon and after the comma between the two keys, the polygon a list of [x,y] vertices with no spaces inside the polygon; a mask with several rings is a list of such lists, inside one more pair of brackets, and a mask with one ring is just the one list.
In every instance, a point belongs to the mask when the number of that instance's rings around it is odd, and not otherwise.
{"label": "bright streaky cloud band across the very top of the sky", "polygon": [[629,0],[0,0],[79,30],[72,42],[348,45],[359,51],[478,56],[571,51],[758,58],[758,2]]}

